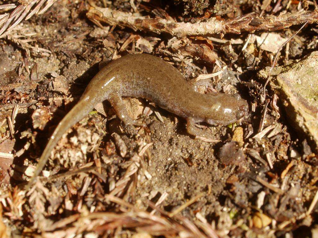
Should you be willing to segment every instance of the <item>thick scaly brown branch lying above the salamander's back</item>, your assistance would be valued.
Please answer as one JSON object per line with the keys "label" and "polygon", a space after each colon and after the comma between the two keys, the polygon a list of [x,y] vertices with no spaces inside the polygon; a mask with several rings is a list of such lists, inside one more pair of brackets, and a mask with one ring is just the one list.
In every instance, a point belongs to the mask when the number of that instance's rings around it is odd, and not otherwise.
{"label": "thick scaly brown branch lying above the salamander's back", "polygon": [[226,34],[242,31],[254,32],[256,30],[280,30],[291,25],[304,22],[317,23],[318,10],[299,11],[296,13],[285,13],[279,16],[258,17],[254,13],[236,17],[229,20],[219,21],[215,17],[205,22],[184,23],[173,22],[162,18],[135,17],[131,13],[112,10],[110,8],[91,7],[86,13],[87,17],[94,23],[100,22],[109,25],[129,27],[133,30],[169,33],[172,36],[198,36],[211,34]]}

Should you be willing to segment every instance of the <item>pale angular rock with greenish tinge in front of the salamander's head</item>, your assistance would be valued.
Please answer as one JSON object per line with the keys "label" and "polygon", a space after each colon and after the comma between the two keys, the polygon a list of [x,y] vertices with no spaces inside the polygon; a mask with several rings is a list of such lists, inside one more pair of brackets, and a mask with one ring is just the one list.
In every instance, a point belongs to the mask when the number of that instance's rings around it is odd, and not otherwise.
{"label": "pale angular rock with greenish tinge in front of the salamander's head", "polygon": [[[268,69],[261,70],[259,77],[266,79]],[[279,94],[287,119],[318,151],[318,51],[275,67],[271,76],[270,85]]]}

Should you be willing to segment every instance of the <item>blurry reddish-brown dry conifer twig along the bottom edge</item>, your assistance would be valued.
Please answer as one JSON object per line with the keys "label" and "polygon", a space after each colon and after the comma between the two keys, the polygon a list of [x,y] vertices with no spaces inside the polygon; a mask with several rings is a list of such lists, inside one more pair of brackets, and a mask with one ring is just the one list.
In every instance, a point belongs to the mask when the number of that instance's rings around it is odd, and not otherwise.
{"label": "blurry reddish-brown dry conifer twig along the bottom edge", "polygon": [[[164,237],[202,237],[216,238],[216,232],[201,221],[194,224],[187,218],[177,215],[174,219],[168,217],[168,213],[157,208],[152,202],[149,206],[160,212],[158,215],[151,214],[136,208],[134,205],[123,201],[122,199],[106,195],[105,198],[111,202],[117,203],[124,210],[122,213],[112,212],[92,212],[86,214],[74,214],[67,218],[56,221],[50,227],[45,228],[43,235],[54,236],[58,234],[77,234],[83,231],[102,235],[104,233],[114,232],[121,228],[135,228],[137,232],[146,232],[150,235],[162,235]],[[201,232],[198,227],[202,227]]]}

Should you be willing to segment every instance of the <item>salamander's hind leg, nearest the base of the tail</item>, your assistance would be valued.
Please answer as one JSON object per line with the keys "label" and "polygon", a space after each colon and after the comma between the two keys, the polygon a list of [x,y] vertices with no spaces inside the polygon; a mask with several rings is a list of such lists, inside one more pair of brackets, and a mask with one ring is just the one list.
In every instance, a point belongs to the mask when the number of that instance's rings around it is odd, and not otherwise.
{"label": "salamander's hind leg, nearest the base of the tail", "polygon": [[116,115],[124,123],[125,126],[144,126],[144,123],[134,120],[128,115],[127,107],[121,96],[111,96],[109,98],[109,102],[112,104],[113,108],[115,109]]}

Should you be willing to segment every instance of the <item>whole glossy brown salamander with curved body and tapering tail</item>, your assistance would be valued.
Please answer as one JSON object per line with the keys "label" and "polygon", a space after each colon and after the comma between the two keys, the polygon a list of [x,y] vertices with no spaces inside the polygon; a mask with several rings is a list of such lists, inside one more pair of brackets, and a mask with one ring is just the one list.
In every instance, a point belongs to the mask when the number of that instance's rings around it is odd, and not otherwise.
{"label": "whole glossy brown salamander with curved body and tapering tail", "polygon": [[187,120],[187,131],[202,136],[197,122],[227,125],[243,118],[247,102],[238,94],[201,94],[195,92],[182,74],[161,58],[148,54],[123,56],[107,64],[91,80],[79,102],[59,122],[47,143],[27,188],[45,166],[59,139],[94,106],[108,100],[125,125],[138,123],[129,118],[122,97],[142,97]]}

